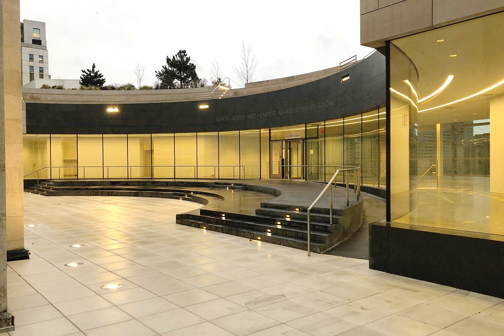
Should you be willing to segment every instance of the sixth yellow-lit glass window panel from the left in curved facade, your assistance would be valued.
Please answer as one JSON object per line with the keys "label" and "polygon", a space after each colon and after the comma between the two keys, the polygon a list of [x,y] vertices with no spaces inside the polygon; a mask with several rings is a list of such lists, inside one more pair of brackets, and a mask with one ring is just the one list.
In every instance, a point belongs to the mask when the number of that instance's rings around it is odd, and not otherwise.
{"label": "sixth yellow-lit glass window panel from the left in curved facade", "polygon": [[152,165],[154,178],[174,178],[175,140],[173,134],[152,135]]}

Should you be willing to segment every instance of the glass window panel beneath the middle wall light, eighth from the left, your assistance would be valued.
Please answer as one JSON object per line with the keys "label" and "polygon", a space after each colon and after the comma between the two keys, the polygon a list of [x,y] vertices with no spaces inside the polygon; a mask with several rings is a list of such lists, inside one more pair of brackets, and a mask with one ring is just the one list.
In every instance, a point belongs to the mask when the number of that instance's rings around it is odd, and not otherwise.
{"label": "glass window panel beneath the middle wall light, eighth from the left", "polygon": [[198,178],[219,175],[219,136],[217,132],[198,133]]}

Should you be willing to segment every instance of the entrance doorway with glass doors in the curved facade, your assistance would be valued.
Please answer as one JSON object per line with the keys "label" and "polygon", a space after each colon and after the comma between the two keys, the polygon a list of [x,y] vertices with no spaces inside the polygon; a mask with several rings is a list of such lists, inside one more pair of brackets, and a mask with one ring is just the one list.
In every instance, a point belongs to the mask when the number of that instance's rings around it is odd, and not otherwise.
{"label": "entrance doorway with glass doors in the curved facade", "polygon": [[271,141],[270,156],[271,179],[304,180],[304,140]]}

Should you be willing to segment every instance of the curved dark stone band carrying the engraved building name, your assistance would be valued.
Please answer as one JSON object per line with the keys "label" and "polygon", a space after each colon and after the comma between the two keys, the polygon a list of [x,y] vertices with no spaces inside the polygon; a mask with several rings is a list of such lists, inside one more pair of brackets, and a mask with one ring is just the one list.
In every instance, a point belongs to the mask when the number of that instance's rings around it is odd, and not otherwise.
{"label": "curved dark stone band carrying the engraved building name", "polygon": [[[350,75],[342,83],[341,77]],[[383,105],[385,57],[375,52],[338,74],[299,86],[225,99],[114,104],[26,103],[27,134],[231,131],[319,122]],[[199,109],[208,104],[208,109]]]}

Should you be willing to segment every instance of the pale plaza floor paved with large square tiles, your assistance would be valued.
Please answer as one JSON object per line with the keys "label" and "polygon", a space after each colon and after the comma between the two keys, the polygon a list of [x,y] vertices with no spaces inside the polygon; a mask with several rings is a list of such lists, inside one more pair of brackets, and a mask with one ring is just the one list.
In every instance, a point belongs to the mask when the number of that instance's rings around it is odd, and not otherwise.
{"label": "pale plaza floor paved with large square tiles", "polygon": [[175,223],[200,206],[25,193],[32,254],[8,263],[9,334],[504,334],[504,300]]}

